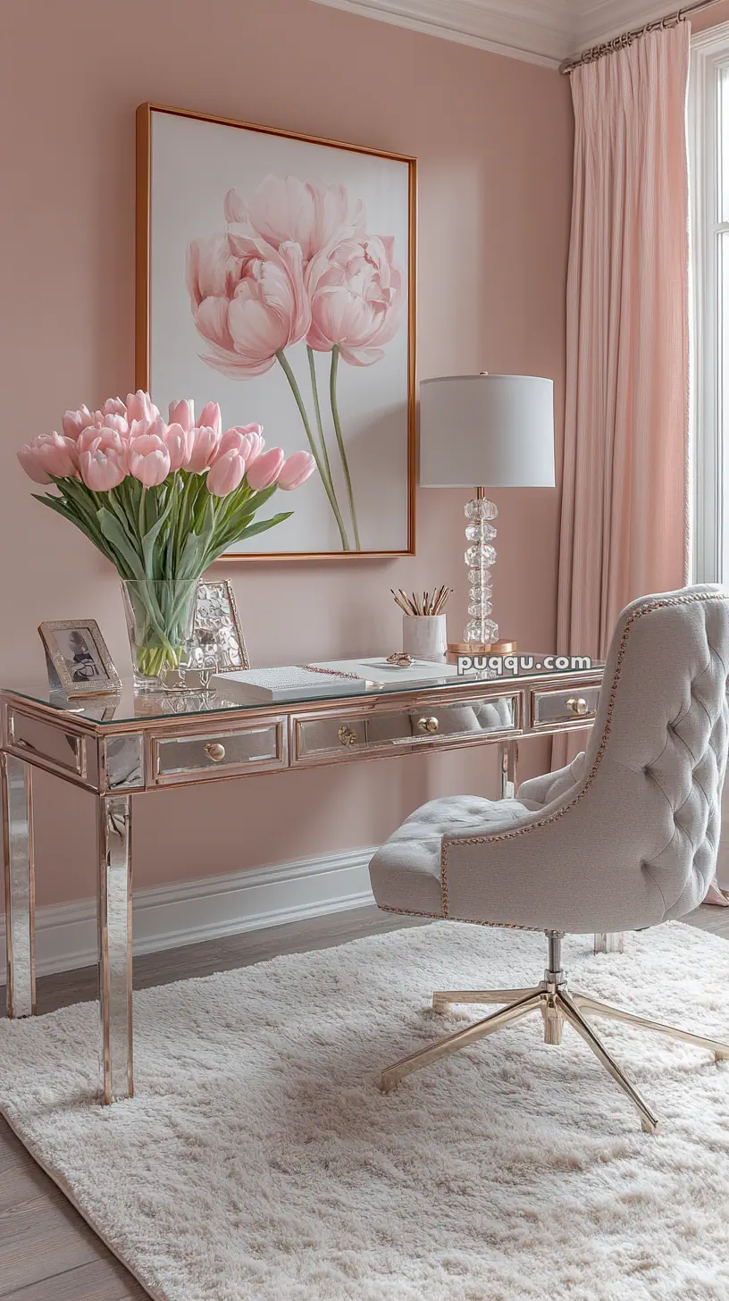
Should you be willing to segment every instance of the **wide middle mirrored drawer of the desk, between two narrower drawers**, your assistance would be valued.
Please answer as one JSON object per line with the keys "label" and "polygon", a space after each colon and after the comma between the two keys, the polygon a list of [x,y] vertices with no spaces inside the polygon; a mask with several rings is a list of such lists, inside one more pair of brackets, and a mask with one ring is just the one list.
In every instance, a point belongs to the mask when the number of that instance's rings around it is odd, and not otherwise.
{"label": "wide middle mirrored drawer of the desk, between two narrower drawers", "polygon": [[293,719],[293,762],[316,764],[422,747],[467,744],[519,726],[518,695],[420,709],[351,712]]}

